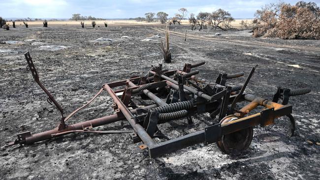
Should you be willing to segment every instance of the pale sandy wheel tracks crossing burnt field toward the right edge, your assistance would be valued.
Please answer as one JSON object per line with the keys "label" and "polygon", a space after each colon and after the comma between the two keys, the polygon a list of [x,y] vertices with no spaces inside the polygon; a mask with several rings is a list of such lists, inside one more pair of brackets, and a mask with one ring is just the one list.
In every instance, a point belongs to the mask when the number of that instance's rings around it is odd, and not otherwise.
{"label": "pale sandy wheel tracks crossing burnt field toward the right edge", "polygon": [[[159,28],[151,28],[152,30],[164,32],[164,30],[161,30]],[[185,33],[182,32],[176,32],[169,30],[171,34],[177,35],[184,37]],[[221,38],[215,38],[215,37],[203,37],[203,36],[198,36],[198,35],[190,35],[187,34],[187,37],[191,39],[200,39],[200,40],[206,40],[206,41],[220,41],[221,43],[226,43],[226,44],[232,44],[232,45],[237,45],[237,46],[246,46],[246,47],[266,47],[272,50],[275,50],[275,48],[286,48],[286,49],[293,49],[296,52],[303,53],[303,54],[311,54],[311,55],[319,55],[320,54],[320,48],[317,47],[308,47],[308,46],[291,46],[291,45],[278,45],[278,44],[270,44],[266,42],[250,42],[250,41],[240,41],[240,40],[230,40],[230,39],[221,39]],[[277,62],[277,60],[272,60]],[[318,63],[313,63],[313,62],[306,62],[302,60],[292,60],[292,62],[296,63],[299,62],[304,65],[308,66],[313,66],[320,68],[320,64]]]}

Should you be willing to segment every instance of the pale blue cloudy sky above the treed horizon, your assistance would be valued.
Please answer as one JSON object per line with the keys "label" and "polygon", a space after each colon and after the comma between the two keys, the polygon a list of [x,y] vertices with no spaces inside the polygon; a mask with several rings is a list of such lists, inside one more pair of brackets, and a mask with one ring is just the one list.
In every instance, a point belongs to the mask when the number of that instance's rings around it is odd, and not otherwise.
{"label": "pale blue cloudy sky above the treed horizon", "polygon": [[[284,0],[295,4],[299,0]],[[222,8],[234,18],[253,18],[262,5],[277,0],[0,0],[5,18],[70,18],[72,14],[96,18],[134,18],[146,12],[164,11],[169,17],[185,7],[189,12],[212,12]],[[320,0],[313,0],[320,6]]]}

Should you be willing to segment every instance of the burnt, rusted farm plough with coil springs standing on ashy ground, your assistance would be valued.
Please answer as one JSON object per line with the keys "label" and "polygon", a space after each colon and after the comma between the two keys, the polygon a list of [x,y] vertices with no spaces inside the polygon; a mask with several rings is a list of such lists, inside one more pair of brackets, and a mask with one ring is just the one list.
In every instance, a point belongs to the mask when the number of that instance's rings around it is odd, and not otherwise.
{"label": "burnt, rusted farm plough with coil springs standing on ashy ground", "polygon": [[[231,87],[226,85],[226,81],[244,76],[243,72],[220,73],[215,82],[211,82],[196,77],[198,70],[192,71],[192,68],[203,65],[205,62],[186,63],[181,70],[164,70],[159,64],[159,66],[152,67],[146,76],[134,76],[126,80],[104,84],[87,104],[65,117],[62,107],[40,83],[29,52],[25,54],[25,57],[33,79],[48,95],[47,101],[53,102],[60,111],[62,118],[56,128],[36,134],[31,134],[30,131],[19,133],[15,141],[5,144],[3,148],[18,144],[20,146],[30,145],[77,132],[130,133],[133,143],[142,142],[139,148],[148,150],[152,158],[199,143],[216,143],[222,151],[238,154],[250,146],[255,125],[267,126],[275,123],[277,118],[287,116],[291,122],[290,131],[293,135],[295,123],[291,115],[292,106],[288,104],[289,97],[310,92],[308,88],[289,90],[278,87],[272,100],[249,93],[245,94],[244,90],[256,66],[252,68],[242,85]],[[115,114],[74,124],[66,123],[103,91],[106,91],[113,99],[112,107]],[[152,100],[154,103],[138,108],[132,100],[133,96],[142,100]],[[240,102],[246,102],[246,105],[239,108]],[[263,107],[262,111],[256,114],[250,113],[258,106]],[[186,119],[188,123],[192,123],[192,115],[204,113],[210,113],[210,117],[218,121],[211,120],[209,122],[211,125],[204,129],[178,138],[169,139],[158,126],[161,123],[178,119]],[[127,120],[132,131],[94,130],[97,126],[120,120]],[[156,138],[158,138],[157,141]]]}

